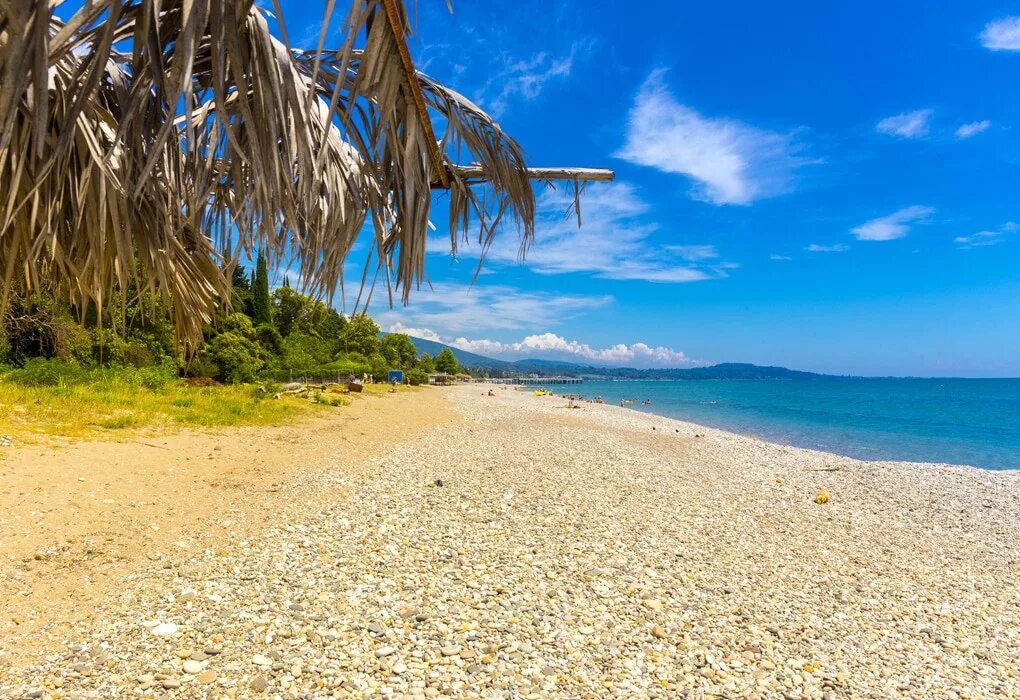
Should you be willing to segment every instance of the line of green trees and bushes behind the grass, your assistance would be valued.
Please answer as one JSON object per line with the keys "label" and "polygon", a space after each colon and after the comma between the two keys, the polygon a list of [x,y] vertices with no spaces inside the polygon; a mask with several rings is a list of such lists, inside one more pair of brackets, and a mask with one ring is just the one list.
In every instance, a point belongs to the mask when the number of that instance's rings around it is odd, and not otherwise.
{"label": "line of green trees and bushes behind the grass", "polygon": [[153,294],[129,288],[101,310],[74,308],[50,290],[17,294],[0,319],[0,360],[26,377],[153,367],[223,383],[366,374],[381,382],[402,369],[406,381],[422,384],[430,372],[461,371],[450,350],[419,355],[408,336],[382,335],[367,314],[341,314],[286,278],[270,289],[261,254],[250,276],[234,266],[231,291],[191,352],[177,342],[171,309]]}

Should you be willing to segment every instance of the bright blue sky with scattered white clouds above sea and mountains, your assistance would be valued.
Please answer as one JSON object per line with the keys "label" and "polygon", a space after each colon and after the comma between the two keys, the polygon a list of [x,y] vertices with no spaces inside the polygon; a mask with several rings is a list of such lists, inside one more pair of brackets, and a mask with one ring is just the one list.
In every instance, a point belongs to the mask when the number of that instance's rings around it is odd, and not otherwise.
{"label": "bright blue sky with scattered white clouds above sea and mountains", "polygon": [[[285,2],[314,37],[318,3]],[[418,66],[533,165],[613,168],[385,330],[492,356],[1020,376],[1020,4],[419,0]],[[550,7],[553,7],[550,14]],[[312,39],[309,44],[314,43]],[[442,211],[442,202],[438,212]]]}

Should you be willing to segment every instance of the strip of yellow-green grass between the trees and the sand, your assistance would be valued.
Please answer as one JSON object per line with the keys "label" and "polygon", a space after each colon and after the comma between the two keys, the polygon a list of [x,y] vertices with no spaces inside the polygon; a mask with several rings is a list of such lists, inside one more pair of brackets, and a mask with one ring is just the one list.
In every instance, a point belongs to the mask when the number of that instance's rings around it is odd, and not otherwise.
{"label": "strip of yellow-green grass between the trees and the sand", "polygon": [[138,429],[278,424],[326,410],[272,398],[258,386],[143,386],[131,373],[95,372],[72,384],[32,386],[0,379],[0,433],[91,436]]}

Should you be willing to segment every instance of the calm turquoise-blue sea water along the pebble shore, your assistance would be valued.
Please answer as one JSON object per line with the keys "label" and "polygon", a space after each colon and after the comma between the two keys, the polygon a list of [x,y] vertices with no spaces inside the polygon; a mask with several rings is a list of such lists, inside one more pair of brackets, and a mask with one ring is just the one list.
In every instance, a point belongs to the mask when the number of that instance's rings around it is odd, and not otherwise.
{"label": "calm turquoise-blue sea water along the pebble shore", "polygon": [[859,459],[1020,468],[1020,380],[585,381],[556,389],[607,403],[633,399],[638,410]]}

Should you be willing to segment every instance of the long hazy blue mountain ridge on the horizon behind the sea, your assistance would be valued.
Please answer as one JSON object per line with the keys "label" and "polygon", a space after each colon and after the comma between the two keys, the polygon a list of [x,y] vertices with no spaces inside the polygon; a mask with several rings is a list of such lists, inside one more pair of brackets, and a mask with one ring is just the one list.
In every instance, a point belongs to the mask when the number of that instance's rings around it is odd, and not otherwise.
{"label": "long hazy blue mountain ridge on the horizon behind the sea", "polygon": [[523,359],[509,362],[486,357],[473,352],[431,340],[411,337],[411,342],[419,353],[427,352],[436,357],[449,349],[464,368],[474,372],[489,372],[493,376],[507,374],[563,374],[567,377],[588,377],[592,379],[626,380],[794,380],[824,377],[810,371],[798,371],[785,367],[763,367],[743,362],[723,362],[710,367],[652,368],[606,367],[579,364],[563,360]]}

